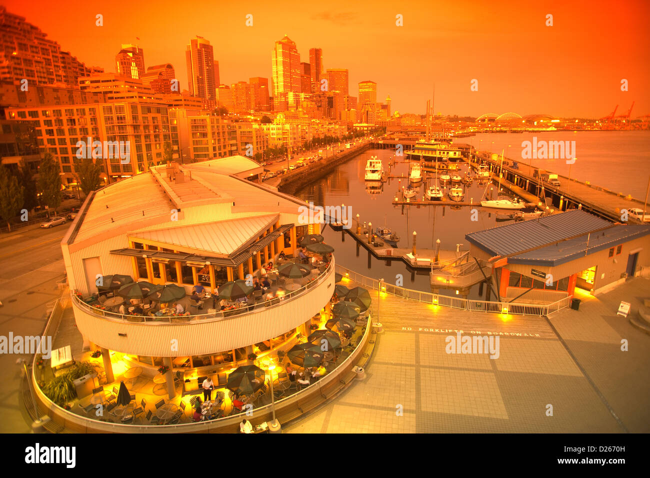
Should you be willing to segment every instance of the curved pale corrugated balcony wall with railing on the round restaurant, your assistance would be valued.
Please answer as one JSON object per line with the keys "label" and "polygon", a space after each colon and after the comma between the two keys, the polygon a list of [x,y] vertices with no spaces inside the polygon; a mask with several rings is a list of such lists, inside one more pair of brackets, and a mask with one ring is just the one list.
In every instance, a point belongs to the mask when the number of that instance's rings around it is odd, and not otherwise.
{"label": "curved pale corrugated balcony wall with railing on the round restaurant", "polygon": [[300,289],[236,310],[154,318],[101,310],[74,294],[72,304],[79,332],[101,347],[142,356],[194,356],[246,347],[304,324],[330,300],[334,282],[332,259]]}

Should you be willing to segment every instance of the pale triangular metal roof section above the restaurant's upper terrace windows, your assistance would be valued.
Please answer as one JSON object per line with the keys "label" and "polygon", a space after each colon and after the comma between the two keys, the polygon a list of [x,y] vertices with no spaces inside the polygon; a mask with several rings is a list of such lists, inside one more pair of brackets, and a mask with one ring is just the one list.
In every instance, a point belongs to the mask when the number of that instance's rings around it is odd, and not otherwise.
{"label": "pale triangular metal roof section above the restaurant's upper terrace windows", "polygon": [[131,237],[157,241],[178,248],[228,256],[240,247],[257,239],[273,224],[279,215],[244,217],[241,219],[205,222],[194,226],[165,228],[131,233]]}

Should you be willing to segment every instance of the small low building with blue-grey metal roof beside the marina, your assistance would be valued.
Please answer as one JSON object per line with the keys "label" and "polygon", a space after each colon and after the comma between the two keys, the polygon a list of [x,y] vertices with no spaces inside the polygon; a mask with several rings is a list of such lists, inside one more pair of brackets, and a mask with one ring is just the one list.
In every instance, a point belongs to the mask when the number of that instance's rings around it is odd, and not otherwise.
{"label": "small low building with blue-grey metal roof beside the marina", "polygon": [[597,294],[650,266],[650,225],[612,223],[580,210],[465,235],[489,261],[500,299],[559,300]]}

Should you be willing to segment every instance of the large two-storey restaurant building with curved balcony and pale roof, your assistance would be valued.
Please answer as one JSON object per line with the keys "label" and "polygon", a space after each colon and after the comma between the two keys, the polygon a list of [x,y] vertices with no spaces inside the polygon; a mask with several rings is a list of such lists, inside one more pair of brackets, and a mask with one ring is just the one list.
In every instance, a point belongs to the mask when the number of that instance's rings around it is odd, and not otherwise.
{"label": "large two-storey restaurant building with curved balcony and pale roof", "polygon": [[227,281],[257,274],[279,252],[294,254],[298,238],[320,231],[318,223],[301,222],[300,201],[238,177],[248,171],[242,159],[154,166],[86,198],[62,239],[62,251],[77,328],[85,345],[103,352],[107,382],[120,373],[114,366],[137,365],[153,377],[167,365],[170,399],[177,372],[184,378],[183,393],[207,375],[221,384],[226,371],[250,354],[262,358],[291,347],[299,334],[307,336],[311,318],[328,304],[333,259],[283,299],[237,313],[215,310],[206,301],[205,309],[192,315],[159,320],[81,299],[97,293],[97,278],[109,274],[177,284],[187,293],[202,284],[215,293]]}

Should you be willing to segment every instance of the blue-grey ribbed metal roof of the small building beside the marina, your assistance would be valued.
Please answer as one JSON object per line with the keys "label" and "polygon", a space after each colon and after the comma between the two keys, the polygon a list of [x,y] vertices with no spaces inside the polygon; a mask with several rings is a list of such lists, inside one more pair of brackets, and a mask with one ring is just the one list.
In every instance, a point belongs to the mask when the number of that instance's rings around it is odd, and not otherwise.
{"label": "blue-grey ribbed metal roof of the small building beside the marina", "polygon": [[[611,227],[590,234],[608,226]],[[649,233],[647,225],[614,226],[612,222],[575,210],[469,233],[465,238],[493,256],[511,256],[509,263],[553,266]],[[580,237],[567,240],[577,235]],[[549,245],[539,247],[545,244]],[[534,247],[539,248],[516,254]]]}

